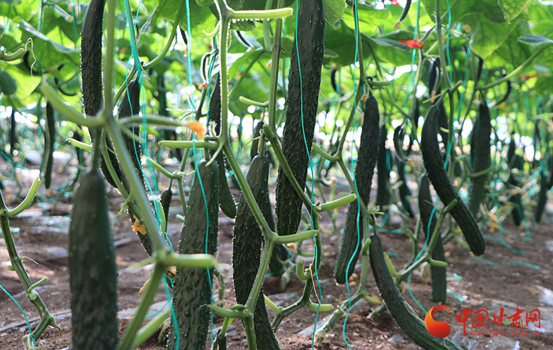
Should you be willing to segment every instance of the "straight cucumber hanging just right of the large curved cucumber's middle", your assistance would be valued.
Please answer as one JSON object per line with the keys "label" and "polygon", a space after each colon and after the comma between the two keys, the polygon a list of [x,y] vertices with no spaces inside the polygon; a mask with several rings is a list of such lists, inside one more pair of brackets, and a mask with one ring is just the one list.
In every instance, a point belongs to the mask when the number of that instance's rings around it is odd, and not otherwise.
{"label": "straight cucumber hanging just right of the large curved cucumber's middle", "polygon": [[[489,147],[489,137],[491,133],[491,124],[489,119],[489,108],[485,102],[480,103],[480,113],[478,114],[478,128],[471,139],[472,173],[485,171],[491,164],[491,150]],[[474,148],[474,151],[473,151]],[[480,175],[471,178],[469,188],[469,211],[475,217],[480,211],[480,203],[486,198],[486,184],[488,175]]]}

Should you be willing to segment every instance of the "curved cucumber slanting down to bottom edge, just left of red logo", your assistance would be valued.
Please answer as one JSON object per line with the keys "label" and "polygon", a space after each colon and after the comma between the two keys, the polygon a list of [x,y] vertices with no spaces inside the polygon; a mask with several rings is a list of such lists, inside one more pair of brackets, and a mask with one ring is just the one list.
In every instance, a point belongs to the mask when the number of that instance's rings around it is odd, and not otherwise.
{"label": "curved cucumber slanting down to bottom edge, just left of red logo", "polygon": [[382,242],[377,233],[371,235],[371,246],[369,247],[369,257],[371,259],[371,269],[375,276],[375,282],[386,302],[386,306],[393,315],[395,322],[407,333],[407,336],[426,350],[462,350],[458,344],[448,338],[440,339],[430,335],[424,322],[407,304],[400,291],[395,286],[386,260],[384,260],[384,251],[382,251]]}

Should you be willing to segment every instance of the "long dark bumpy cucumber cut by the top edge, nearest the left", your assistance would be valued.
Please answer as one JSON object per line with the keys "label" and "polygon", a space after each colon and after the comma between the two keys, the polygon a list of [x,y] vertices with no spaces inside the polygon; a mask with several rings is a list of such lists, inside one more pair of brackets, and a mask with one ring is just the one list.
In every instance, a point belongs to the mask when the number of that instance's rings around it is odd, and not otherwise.
{"label": "long dark bumpy cucumber cut by the top edge, nearest the left", "polygon": [[91,117],[102,109],[102,18],[106,0],[91,0],[81,30],[82,104]]}

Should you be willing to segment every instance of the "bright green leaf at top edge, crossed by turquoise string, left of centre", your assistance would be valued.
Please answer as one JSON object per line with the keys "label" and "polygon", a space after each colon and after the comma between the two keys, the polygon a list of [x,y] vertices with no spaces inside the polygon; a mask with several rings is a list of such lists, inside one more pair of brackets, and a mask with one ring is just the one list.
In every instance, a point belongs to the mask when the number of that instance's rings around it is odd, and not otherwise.
{"label": "bright green leaf at top edge, crossed by turquoise string, left of centre", "polygon": [[[156,14],[154,14],[151,23],[156,23],[159,17],[169,19],[169,21],[175,21],[181,3],[180,0],[160,0],[159,5],[156,7],[156,10],[154,10]],[[196,1],[189,1],[189,12],[191,24],[191,33],[189,34],[205,39],[213,37],[215,34],[215,26],[217,25],[217,18],[212,13],[212,10],[198,6]],[[186,11],[183,10],[178,20],[178,25],[186,29],[187,23]]]}

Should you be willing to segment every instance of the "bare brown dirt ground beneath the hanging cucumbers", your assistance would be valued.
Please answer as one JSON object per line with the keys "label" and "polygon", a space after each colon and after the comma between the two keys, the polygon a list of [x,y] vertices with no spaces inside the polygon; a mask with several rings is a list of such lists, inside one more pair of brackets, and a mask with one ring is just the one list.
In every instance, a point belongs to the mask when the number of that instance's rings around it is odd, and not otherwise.
{"label": "bare brown dirt ground beneath the hanging cucumbers", "polygon": [[[55,168],[57,175],[54,177],[52,189],[60,188],[73,173],[72,167],[63,168],[67,164],[65,159],[56,159]],[[61,168],[60,168],[61,167]],[[28,169],[18,170],[19,178],[24,187],[28,188],[32,179],[38,175],[36,167],[28,165]],[[9,174],[9,166],[0,161],[0,171]],[[3,197],[8,205],[14,206],[19,202],[17,186],[13,181],[3,182],[6,188]],[[344,191],[346,189],[344,188]],[[24,195],[24,194],[23,194]],[[15,244],[19,255],[29,257],[24,260],[26,269],[32,282],[47,277],[48,281],[37,287],[36,291],[46,303],[50,313],[55,315],[57,324],[62,328],[61,336],[55,329],[48,329],[37,341],[40,349],[62,350],[71,347],[71,311],[70,291],[68,284],[67,244],[68,224],[71,215],[71,193],[55,203],[52,198],[55,192],[45,191],[41,188],[39,198],[41,203],[34,204],[21,215],[10,220],[13,229]],[[235,193],[236,199],[238,193]],[[131,222],[127,215],[115,216],[121,208],[122,198],[116,191],[109,193],[111,206],[112,232],[117,246],[117,263],[119,270],[119,309],[122,331],[129,323],[133,315],[133,309],[138,306],[140,297],[138,291],[149,278],[151,265],[140,269],[129,267],[147,257],[140,240],[131,230]],[[413,203],[415,201],[413,200]],[[553,208],[550,208],[553,209]],[[345,221],[346,207],[340,208],[336,219],[337,228],[341,229]],[[181,213],[177,196],[171,204],[169,219],[169,237],[178,246],[182,222],[176,219],[176,214]],[[467,334],[463,334],[463,324],[456,321],[454,315],[443,312],[436,315],[437,320],[443,320],[451,324],[450,339],[455,340],[463,349],[497,349],[497,350],[534,350],[553,349],[553,276],[551,266],[553,264],[553,227],[552,213],[543,220],[542,224],[534,224],[529,227],[529,234],[522,227],[516,227],[510,219],[503,222],[503,231],[487,229],[487,251],[482,256],[488,262],[476,260],[471,257],[465,248],[456,242],[449,242],[444,246],[447,251],[448,267],[448,294],[447,306],[455,314],[463,309],[471,309],[475,312],[485,310],[490,317],[494,313],[500,313],[500,309],[507,316],[516,313],[518,307],[522,310],[521,318],[525,323],[527,312],[540,311],[541,328],[536,328],[534,322],[522,329],[524,332],[538,331],[521,334],[521,329],[512,328],[507,319],[502,326],[494,325],[486,327],[473,327],[473,317],[466,324]],[[397,215],[391,216],[391,224],[384,227],[386,230],[397,229],[402,219]],[[232,257],[232,224],[233,220],[221,215],[219,221],[219,262],[231,263]],[[411,222],[414,226],[414,222]],[[339,237],[333,232],[332,222],[328,215],[323,215],[321,227],[325,258],[324,265],[319,271],[321,283],[321,295],[312,295],[312,300],[321,298],[321,302],[333,305],[339,304],[340,299],[348,298],[346,286],[337,285],[334,282],[333,270],[335,258],[339,248]],[[498,240],[503,235],[503,242]],[[412,246],[409,237],[400,233],[380,233],[384,250],[391,254],[391,259],[397,270],[409,260]],[[512,246],[518,251],[514,253],[506,246]],[[304,247],[310,249],[309,244]],[[525,264],[513,263],[514,261]],[[7,269],[9,262],[6,244],[0,240],[0,284],[10,293],[24,309],[31,328],[37,325],[37,312],[28,302],[15,272]],[[357,265],[359,274],[360,265]],[[225,273],[225,302],[234,303],[234,290],[232,286],[232,271],[227,269]],[[214,285],[217,287],[217,284]],[[357,289],[357,280],[350,282],[352,291]],[[369,269],[367,289],[370,295],[379,296],[371,269]],[[422,269],[413,273],[410,289],[418,302],[425,310],[435,306],[431,301],[431,286],[429,275],[424,275]],[[274,277],[265,278],[264,291],[268,297],[283,306],[292,304],[298,300],[303,291],[303,282],[294,274],[285,290],[281,289],[281,280]],[[216,293],[216,291],[214,291]],[[454,294],[452,294],[454,293]],[[317,293],[318,294],[318,293]],[[409,291],[403,293],[405,299],[413,309],[424,319],[424,311],[418,307],[417,302],[411,298]],[[167,301],[164,289],[156,298],[156,306],[162,307]],[[345,331],[345,338],[351,349],[383,349],[383,350],[408,350],[420,349],[413,341],[407,338],[387,311],[374,318],[367,318],[368,314],[377,307],[377,304],[360,302],[351,311]],[[321,320],[332,312],[319,313],[319,325]],[[270,317],[274,313],[270,311]],[[316,321],[316,313],[308,309],[302,309],[293,313],[282,322],[277,332],[277,338],[283,350],[311,349],[312,326]],[[216,331],[221,326],[221,319],[215,318],[213,328]],[[342,327],[344,318],[334,327],[334,333],[329,334],[322,344],[315,344],[315,349],[348,349],[344,342]],[[471,335],[470,331],[496,331],[509,335],[482,336]],[[514,334],[510,332],[515,331]],[[518,334],[516,331],[519,331]],[[0,349],[15,350],[24,349],[21,337],[28,333],[24,315],[17,305],[8,298],[6,293],[0,292]],[[245,335],[241,322],[235,320],[227,333],[228,349],[246,349]],[[210,338],[210,336],[208,336]],[[208,340],[209,344],[209,340]],[[210,346],[210,345],[209,345]],[[158,344],[151,339],[142,344],[139,349],[165,349],[163,344]]]}

